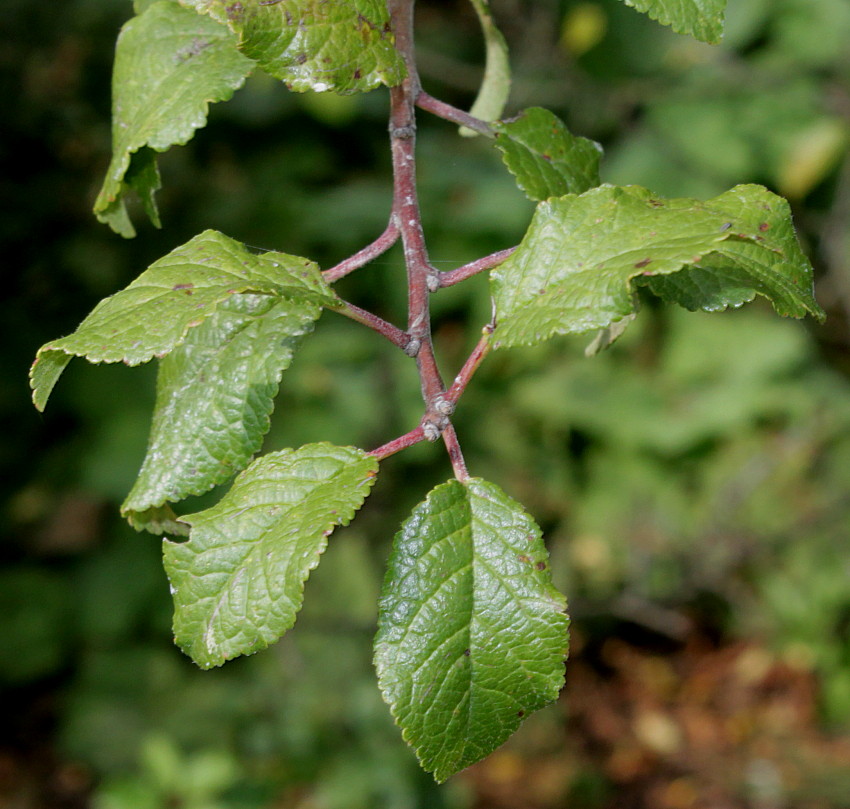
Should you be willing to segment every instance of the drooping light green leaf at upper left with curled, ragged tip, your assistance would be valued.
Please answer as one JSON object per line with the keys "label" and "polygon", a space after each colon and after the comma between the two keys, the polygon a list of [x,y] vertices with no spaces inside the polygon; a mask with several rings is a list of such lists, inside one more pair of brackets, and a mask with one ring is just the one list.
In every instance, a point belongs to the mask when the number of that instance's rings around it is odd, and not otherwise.
{"label": "drooping light green leaf at upper left with curled, ragged tip", "polygon": [[175,3],[153,3],[131,19],[115,51],[113,157],[95,201],[97,218],[134,236],[125,202],[132,188],[159,226],[153,198],[159,174],[150,149],[164,152],[190,140],[206,125],[210,102],[230,98],[253,67],[225,26]]}

